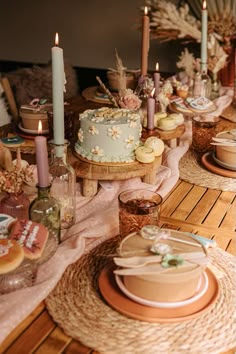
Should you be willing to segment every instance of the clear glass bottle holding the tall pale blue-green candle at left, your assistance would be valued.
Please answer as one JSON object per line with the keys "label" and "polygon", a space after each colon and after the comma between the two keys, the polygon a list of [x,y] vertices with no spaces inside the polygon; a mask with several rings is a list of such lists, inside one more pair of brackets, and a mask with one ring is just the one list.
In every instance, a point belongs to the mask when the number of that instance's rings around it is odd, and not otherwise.
{"label": "clear glass bottle holding the tall pale blue-green candle at left", "polygon": [[61,229],[67,229],[75,223],[75,202],[76,202],[76,176],[74,169],[67,163],[67,146],[56,145],[53,141],[51,146],[51,161],[49,163],[49,174],[51,178],[51,195],[60,204]]}

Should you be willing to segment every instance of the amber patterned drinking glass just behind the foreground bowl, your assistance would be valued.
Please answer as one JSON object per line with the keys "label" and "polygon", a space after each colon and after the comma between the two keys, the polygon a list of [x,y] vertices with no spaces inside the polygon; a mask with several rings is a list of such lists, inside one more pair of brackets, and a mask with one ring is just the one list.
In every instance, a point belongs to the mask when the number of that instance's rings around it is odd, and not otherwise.
{"label": "amber patterned drinking glass just behind the foreground bowl", "polygon": [[144,225],[159,226],[162,197],[145,189],[127,190],[118,196],[120,236],[139,231]]}

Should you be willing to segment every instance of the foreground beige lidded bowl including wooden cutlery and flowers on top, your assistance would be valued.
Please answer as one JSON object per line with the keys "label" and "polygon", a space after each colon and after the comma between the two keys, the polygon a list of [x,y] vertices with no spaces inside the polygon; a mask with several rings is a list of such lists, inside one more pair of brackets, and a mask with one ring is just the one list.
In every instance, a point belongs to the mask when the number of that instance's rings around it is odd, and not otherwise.
{"label": "foreground beige lidded bowl including wooden cutlery and flowers on top", "polygon": [[209,263],[207,251],[197,239],[154,225],[126,236],[118,253],[114,273],[122,276],[126,289],[157,302],[178,302],[194,296],[203,285]]}

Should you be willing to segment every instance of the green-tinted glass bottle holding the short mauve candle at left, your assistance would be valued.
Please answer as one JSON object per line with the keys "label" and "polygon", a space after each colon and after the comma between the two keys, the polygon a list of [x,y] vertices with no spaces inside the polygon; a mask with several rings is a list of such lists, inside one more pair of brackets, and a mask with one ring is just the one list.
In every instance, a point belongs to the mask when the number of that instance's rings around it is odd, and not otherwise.
{"label": "green-tinted glass bottle holding the short mauve candle at left", "polygon": [[37,188],[38,196],[30,204],[29,218],[43,224],[48,229],[51,243],[57,245],[60,242],[60,205],[50,195],[51,185],[37,185]]}

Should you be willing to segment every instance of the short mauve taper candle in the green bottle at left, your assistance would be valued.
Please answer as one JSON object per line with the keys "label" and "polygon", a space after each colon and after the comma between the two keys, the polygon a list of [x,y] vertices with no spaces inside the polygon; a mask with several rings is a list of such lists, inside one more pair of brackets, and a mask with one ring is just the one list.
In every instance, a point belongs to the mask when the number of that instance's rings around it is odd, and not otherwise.
{"label": "short mauve taper candle in the green bottle at left", "polygon": [[38,185],[39,187],[47,187],[49,185],[49,172],[47,139],[45,138],[45,136],[37,136],[35,138],[35,148],[38,172]]}

